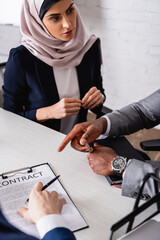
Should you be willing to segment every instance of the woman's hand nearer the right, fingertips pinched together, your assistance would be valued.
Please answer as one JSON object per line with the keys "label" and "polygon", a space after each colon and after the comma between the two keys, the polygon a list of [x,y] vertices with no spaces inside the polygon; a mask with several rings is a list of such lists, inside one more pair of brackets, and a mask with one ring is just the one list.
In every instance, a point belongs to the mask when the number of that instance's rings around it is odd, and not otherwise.
{"label": "woman's hand nearer the right, fingertips pinched together", "polygon": [[101,91],[98,90],[96,87],[92,87],[82,99],[82,107],[84,107],[85,109],[93,109],[103,103],[103,100],[104,97],[101,94]]}

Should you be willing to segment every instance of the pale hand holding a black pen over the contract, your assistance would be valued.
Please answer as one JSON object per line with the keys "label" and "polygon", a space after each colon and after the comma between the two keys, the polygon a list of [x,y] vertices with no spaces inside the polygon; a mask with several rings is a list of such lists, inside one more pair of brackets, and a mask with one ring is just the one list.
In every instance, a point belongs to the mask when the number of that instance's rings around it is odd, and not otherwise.
{"label": "pale hand holding a black pen over the contract", "polygon": [[35,184],[29,196],[28,208],[19,207],[17,213],[29,223],[37,221],[49,214],[61,214],[63,205],[66,203],[64,198],[58,198],[58,193],[41,191],[43,184]]}

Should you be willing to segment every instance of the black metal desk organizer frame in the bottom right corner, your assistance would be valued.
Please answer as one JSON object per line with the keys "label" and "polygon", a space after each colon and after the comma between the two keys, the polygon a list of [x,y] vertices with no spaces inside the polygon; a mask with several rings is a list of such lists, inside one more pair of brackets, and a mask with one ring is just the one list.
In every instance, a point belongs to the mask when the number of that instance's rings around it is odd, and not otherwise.
{"label": "black metal desk organizer frame in the bottom right corner", "polygon": [[[155,189],[155,196],[153,196],[152,198],[148,199],[145,203],[139,205],[140,199],[141,199],[141,195],[143,193],[143,189],[145,186],[145,183],[152,178],[154,181],[154,189]],[[138,195],[136,197],[135,200],[135,204],[133,207],[133,211],[130,212],[128,215],[126,215],[124,218],[122,218],[120,221],[118,221],[117,223],[115,223],[112,227],[111,227],[111,234],[109,237],[109,240],[113,239],[113,234],[120,229],[121,227],[123,227],[125,224],[128,223],[127,229],[126,229],[126,234],[128,235],[131,231],[135,231],[137,229],[139,229],[141,226],[144,226],[144,224],[146,224],[150,219],[154,219],[154,217],[160,213],[160,192],[158,191],[158,183],[160,183],[160,179],[156,176],[155,173],[148,173],[140,186]],[[151,205],[156,204],[156,210],[154,212],[152,212],[152,214],[150,216],[148,216],[147,218],[145,218],[142,222],[140,222],[138,225],[133,227],[133,223],[135,221],[136,216],[138,216],[138,214],[142,213],[144,210],[146,210],[147,208],[149,208]],[[160,227],[160,226],[159,226]],[[126,235],[125,235],[126,236]],[[119,238],[119,239],[123,239]],[[129,238],[125,238],[124,239],[129,239]],[[131,238],[132,239],[132,238]]]}

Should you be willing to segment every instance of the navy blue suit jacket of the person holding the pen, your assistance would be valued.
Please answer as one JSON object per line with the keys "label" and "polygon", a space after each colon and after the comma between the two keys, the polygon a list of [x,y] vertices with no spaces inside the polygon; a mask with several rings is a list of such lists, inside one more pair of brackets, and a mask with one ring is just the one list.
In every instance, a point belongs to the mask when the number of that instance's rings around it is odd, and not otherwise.
{"label": "navy blue suit jacket of the person holding the pen", "polygon": [[[38,240],[12,226],[0,211],[0,239],[1,240]],[[73,233],[67,228],[55,228],[43,237],[42,240],[75,240]]]}

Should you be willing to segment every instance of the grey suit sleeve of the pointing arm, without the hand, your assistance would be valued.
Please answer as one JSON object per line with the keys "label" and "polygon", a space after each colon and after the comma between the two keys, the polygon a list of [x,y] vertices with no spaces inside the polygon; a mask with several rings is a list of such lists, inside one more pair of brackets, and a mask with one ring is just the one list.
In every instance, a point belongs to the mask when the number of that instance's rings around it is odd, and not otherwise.
{"label": "grey suit sleeve of the pointing arm, without the hand", "polygon": [[107,114],[111,121],[109,136],[127,135],[160,123],[160,89],[145,99]]}

